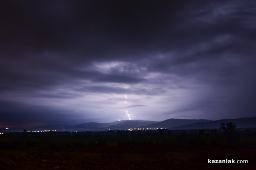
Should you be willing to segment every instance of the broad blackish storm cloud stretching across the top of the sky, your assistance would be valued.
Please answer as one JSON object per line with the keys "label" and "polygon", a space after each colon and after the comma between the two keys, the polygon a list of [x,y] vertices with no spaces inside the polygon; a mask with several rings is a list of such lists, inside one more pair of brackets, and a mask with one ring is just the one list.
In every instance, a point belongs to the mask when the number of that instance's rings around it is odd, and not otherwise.
{"label": "broad blackish storm cloud stretching across the top of the sky", "polygon": [[[245,13],[245,9],[241,9],[232,16],[217,16],[213,20],[215,7],[223,4],[203,4],[189,6],[190,3],[163,1],[3,3],[1,19],[5,41],[2,43],[12,44],[16,47],[14,51],[19,52],[24,49],[75,51],[73,58],[84,61],[92,60],[91,57],[110,59],[122,55],[136,58],[136,54],[145,52],[183,50],[191,46],[191,42],[227,33],[243,37],[252,35],[250,28],[247,28],[250,32],[241,35],[241,30],[245,29],[241,23],[252,12]],[[201,8],[205,8],[203,12]],[[244,12],[242,16],[241,12]],[[206,21],[200,22],[198,19],[204,16]],[[18,46],[22,47],[17,49]]]}

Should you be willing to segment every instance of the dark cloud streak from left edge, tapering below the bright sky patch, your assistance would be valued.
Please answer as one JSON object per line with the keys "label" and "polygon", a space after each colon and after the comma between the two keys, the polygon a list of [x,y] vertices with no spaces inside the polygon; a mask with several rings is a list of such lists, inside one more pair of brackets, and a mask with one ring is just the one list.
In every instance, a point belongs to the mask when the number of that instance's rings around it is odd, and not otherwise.
{"label": "dark cloud streak from left edge, tapering below the bright sky patch", "polygon": [[[22,61],[21,61],[22,62]],[[55,63],[56,64],[56,63]],[[6,89],[41,89],[50,88],[52,86],[58,86],[63,84],[70,84],[75,86],[76,80],[87,79],[95,82],[116,82],[116,83],[128,83],[134,84],[145,81],[144,78],[137,77],[136,75],[124,75],[119,72],[113,72],[110,74],[97,72],[97,71],[81,71],[73,68],[71,65],[61,66],[59,64],[55,68],[52,66],[33,66],[32,64],[26,64],[22,66],[6,67],[2,68],[3,72],[0,75],[5,79],[0,85],[0,90]],[[50,63],[49,63],[50,65]],[[73,82],[75,81],[75,82]],[[108,87],[106,87],[108,88]]]}

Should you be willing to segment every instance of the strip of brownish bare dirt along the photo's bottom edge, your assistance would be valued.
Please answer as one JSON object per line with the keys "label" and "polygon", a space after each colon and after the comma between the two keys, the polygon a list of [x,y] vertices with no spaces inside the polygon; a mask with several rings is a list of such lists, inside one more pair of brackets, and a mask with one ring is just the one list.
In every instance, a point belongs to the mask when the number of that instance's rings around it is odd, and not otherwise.
{"label": "strip of brownish bare dirt along the photo's bottom edge", "polygon": [[[208,164],[209,159],[248,164]],[[2,151],[0,170],[256,170],[256,148],[98,146],[63,153]]]}

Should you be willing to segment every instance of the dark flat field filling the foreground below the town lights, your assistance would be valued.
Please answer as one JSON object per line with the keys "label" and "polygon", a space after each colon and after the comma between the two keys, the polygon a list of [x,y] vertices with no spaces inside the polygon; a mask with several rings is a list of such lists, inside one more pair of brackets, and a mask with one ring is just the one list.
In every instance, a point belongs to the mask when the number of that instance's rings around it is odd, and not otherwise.
{"label": "dark flat field filling the foreground below the town lights", "polygon": [[[256,131],[5,133],[0,170],[255,170]],[[208,159],[248,160],[208,164]]]}

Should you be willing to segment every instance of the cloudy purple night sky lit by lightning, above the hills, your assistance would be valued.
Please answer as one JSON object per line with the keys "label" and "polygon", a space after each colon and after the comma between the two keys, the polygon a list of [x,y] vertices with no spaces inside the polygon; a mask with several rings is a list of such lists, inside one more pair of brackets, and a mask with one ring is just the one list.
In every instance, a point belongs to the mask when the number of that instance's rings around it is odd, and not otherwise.
{"label": "cloudy purple night sky lit by lightning, above the hills", "polygon": [[1,0],[0,127],[253,117],[255,55],[254,0]]}

